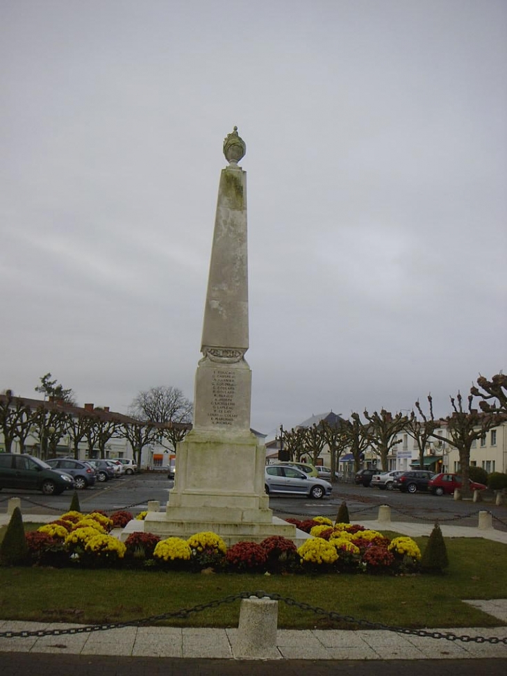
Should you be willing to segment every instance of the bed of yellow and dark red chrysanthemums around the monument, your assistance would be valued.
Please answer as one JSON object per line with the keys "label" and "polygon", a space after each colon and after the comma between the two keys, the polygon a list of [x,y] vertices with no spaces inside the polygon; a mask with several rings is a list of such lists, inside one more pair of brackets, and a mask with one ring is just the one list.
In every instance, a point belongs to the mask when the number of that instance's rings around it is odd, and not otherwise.
{"label": "bed of yellow and dark red chrysanthemums around the monument", "polygon": [[[128,516],[67,512],[26,534],[28,564],[35,566],[114,566],[154,570],[204,569],[214,572],[348,572],[400,575],[420,572],[421,552],[412,538],[387,538],[358,524],[333,524],[326,517],[290,519],[310,538],[297,548],[288,538],[271,536],[260,543],[231,547],[212,531],[188,539],[133,533],[125,543],[110,535]],[[143,515],[144,516],[144,515]]]}

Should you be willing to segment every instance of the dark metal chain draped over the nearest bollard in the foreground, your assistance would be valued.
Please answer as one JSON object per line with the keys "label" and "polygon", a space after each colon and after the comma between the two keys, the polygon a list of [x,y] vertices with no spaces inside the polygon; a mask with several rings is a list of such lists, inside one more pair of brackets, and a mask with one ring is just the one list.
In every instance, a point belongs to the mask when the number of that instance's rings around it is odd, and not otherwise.
{"label": "dark metal chain draped over the nearest bollard in the foreground", "polygon": [[463,643],[492,643],[492,644],[504,643],[505,645],[507,645],[507,637],[499,638],[498,636],[469,636],[468,634],[458,636],[458,634],[454,634],[453,632],[430,632],[427,629],[406,629],[405,627],[393,627],[390,625],[383,625],[382,623],[379,622],[370,622],[369,620],[354,618],[354,616],[351,615],[340,615],[340,613],[335,613],[334,611],[326,611],[323,608],[312,606],[308,603],[302,603],[290,597],[285,597],[280,594],[271,594],[265,591],[254,591],[254,592],[243,591],[238,594],[226,596],[223,599],[213,600],[210,601],[209,603],[199,604],[192,608],[182,608],[180,610],[171,613],[163,613],[162,615],[152,615],[148,618],[142,618],[140,620],[131,620],[130,622],[85,625],[83,627],[72,627],[69,629],[38,629],[37,631],[34,632],[27,631],[0,632],[0,638],[29,638],[31,636],[41,637],[41,636],[64,636],[66,634],[90,634],[92,632],[107,631],[108,629],[120,629],[122,627],[139,627],[140,625],[159,622],[160,620],[168,620],[169,618],[187,618],[189,615],[192,615],[192,613],[200,613],[210,608],[218,608],[223,604],[233,603],[240,599],[247,599],[252,596],[257,598],[269,598],[272,601],[281,601],[288,606],[299,608],[302,611],[309,611],[319,616],[325,616],[326,618],[334,620],[335,622],[343,622],[353,625],[359,625],[360,627],[366,627],[367,629],[377,629],[386,632],[394,632],[395,634],[419,636],[422,638],[442,638],[445,641],[462,641]]}

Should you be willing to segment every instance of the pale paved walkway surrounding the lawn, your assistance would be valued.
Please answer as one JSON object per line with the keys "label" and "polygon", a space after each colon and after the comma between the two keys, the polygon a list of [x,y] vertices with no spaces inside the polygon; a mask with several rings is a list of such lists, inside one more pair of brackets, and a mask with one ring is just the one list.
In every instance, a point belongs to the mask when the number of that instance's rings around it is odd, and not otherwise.
{"label": "pale paved walkway surrounding the lawn", "polygon": [[[45,523],[55,516],[24,515],[24,520]],[[10,516],[0,514],[0,525],[8,523]],[[390,530],[408,536],[429,536],[433,525],[412,522],[359,521],[375,530]],[[507,531],[492,527],[466,527],[442,525],[447,538],[479,537],[507,544]],[[485,613],[507,623],[507,599],[468,600]],[[80,625],[25,623],[0,620],[0,633],[63,629]],[[503,640],[507,626],[456,629],[431,629],[456,636],[483,636]],[[124,657],[167,657],[181,659],[242,659],[235,646],[238,629],[177,628],[177,627],[124,627],[82,634],[33,636],[30,638],[0,638],[0,653],[30,652],[73,655],[117,655]],[[484,659],[507,658],[506,643],[476,643],[449,641],[397,634],[385,630],[342,631],[339,629],[313,629],[294,631],[279,629],[276,645],[265,646],[262,659],[285,660],[420,660],[420,659]]]}

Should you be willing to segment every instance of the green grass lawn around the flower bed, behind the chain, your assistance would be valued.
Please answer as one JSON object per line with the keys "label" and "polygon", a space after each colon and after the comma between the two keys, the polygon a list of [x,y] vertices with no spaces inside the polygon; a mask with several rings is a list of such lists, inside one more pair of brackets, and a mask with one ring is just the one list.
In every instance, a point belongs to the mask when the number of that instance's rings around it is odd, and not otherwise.
{"label": "green grass lawn around the flower bed, behind the chain", "polygon": [[[25,524],[26,530],[30,528]],[[415,539],[424,550],[428,538]],[[507,545],[481,538],[445,538],[445,542],[450,566],[442,576],[203,575],[154,570],[1,568],[0,619],[119,622],[263,589],[340,615],[385,625],[498,626],[499,620],[463,603],[462,599],[507,597]],[[238,600],[158,624],[235,627],[239,609]],[[279,627],[350,629],[354,624],[332,622],[280,602]]]}

